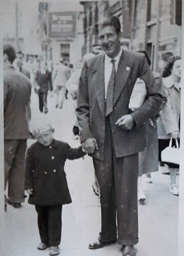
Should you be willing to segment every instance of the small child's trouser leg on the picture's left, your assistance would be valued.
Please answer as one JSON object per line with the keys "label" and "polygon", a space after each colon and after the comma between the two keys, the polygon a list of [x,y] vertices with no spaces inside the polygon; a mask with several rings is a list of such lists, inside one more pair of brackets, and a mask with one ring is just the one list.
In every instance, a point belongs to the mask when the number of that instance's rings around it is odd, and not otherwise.
{"label": "small child's trouser leg on the picture's left", "polygon": [[49,208],[47,206],[35,206],[38,213],[38,229],[40,234],[40,239],[43,244],[48,245],[48,212]]}

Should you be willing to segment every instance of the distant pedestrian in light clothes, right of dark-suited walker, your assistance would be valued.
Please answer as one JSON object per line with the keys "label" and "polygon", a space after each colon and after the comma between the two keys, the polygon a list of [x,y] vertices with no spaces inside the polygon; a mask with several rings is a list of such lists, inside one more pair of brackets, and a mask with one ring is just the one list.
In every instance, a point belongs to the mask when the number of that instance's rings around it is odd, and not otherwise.
{"label": "distant pedestrian in light clothes, right of dark-suited walker", "polygon": [[56,66],[53,77],[55,93],[56,93],[56,107],[63,108],[64,98],[66,95],[66,82],[69,80],[70,70],[68,66],[64,65],[64,61],[60,60]]}

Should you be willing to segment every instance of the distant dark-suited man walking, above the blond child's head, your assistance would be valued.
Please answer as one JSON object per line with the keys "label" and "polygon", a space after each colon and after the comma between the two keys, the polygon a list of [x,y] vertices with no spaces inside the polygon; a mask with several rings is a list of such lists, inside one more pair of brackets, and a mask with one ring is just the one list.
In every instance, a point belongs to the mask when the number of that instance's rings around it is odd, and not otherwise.
{"label": "distant dark-suited man walking, above the blond child's head", "polygon": [[48,89],[52,88],[52,76],[45,60],[41,62],[41,70],[38,70],[35,74],[33,85],[38,93],[40,112],[46,114],[48,112],[47,95]]}

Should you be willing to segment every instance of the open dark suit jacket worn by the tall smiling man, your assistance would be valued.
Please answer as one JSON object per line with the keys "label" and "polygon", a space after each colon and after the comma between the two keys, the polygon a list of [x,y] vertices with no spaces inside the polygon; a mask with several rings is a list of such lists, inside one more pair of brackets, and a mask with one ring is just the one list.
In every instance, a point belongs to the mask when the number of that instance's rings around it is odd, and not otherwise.
{"label": "open dark suit jacket worn by the tall smiling man", "polygon": [[[130,112],[129,98],[137,78],[144,80],[147,88],[146,101],[140,109]],[[96,55],[84,63],[78,91],[77,119],[81,130],[81,142],[94,137],[99,145],[92,157],[103,160],[105,140],[105,84],[104,53]],[[113,94],[113,112],[110,114],[113,142],[116,157],[132,155],[144,150],[146,135],[144,123],[159,112],[164,99],[163,89],[157,85],[152,71],[142,53],[123,50],[116,71]],[[123,115],[130,114],[134,119],[131,130],[116,126]]]}

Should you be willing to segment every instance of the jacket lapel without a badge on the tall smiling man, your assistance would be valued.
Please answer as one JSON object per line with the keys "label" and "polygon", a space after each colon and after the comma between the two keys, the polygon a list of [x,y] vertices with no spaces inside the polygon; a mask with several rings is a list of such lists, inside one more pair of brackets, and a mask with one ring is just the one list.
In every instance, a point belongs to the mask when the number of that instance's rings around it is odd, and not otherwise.
{"label": "jacket lapel without a badge on the tall smiling man", "polygon": [[94,73],[96,73],[94,86],[97,101],[99,103],[100,111],[102,115],[105,114],[105,81],[104,81],[104,54],[100,55],[97,60],[96,68]]}

